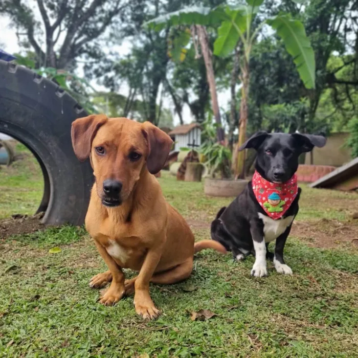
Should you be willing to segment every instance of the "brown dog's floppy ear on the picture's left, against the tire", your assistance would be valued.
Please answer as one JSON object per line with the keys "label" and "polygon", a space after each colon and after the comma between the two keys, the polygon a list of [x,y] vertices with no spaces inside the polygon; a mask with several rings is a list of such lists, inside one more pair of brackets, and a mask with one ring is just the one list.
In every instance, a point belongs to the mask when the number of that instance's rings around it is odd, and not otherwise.
{"label": "brown dog's floppy ear on the picture's left, against the tire", "polygon": [[108,120],[106,115],[90,115],[72,123],[71,139],[77,158],[83,162],[91,152],[91,144],[100,126]]}

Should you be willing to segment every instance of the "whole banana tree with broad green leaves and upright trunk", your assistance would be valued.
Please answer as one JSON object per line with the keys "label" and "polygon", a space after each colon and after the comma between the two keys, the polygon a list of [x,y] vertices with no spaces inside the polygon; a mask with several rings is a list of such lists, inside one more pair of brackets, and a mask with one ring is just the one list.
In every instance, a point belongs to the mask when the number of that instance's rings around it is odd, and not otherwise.
{"label": "whole banana tree with broad green leaves and upright trunk", "polygon": [[[293,0],[298,2],[298,0]],[[297,71],[306,88],[315,88],[315,54],[306,36],[305,29],[299,20],[289,14],[279,14],[265,19],[253,28],[253,19],[264,0],[246,0],[247,5],[225,6],[209,9],[206,7],[189,7],[156,17],[147,23],[157,30],[164,26],[204,25],[218,27],[218,37],[214,43],[214,55],[232,55],[238,44],[241,48],[240,80],[241,106],[239,120],[239,148],[245,141],[248,122],[248,96],[250,83],[250,54],[263,26],[268,25],[282,38],[287,52],[292,55]],[[237,150],[236,148],[236,150]],[[235,177],[244,178],[245,153],[239,152],[235,168]]]}

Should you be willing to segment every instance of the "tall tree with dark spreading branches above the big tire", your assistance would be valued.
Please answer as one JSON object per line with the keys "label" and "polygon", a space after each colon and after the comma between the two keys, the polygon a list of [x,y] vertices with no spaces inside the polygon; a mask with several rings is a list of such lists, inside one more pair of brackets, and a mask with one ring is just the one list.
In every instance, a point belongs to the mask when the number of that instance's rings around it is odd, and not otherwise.
{"label": "tall tree with dark spreading branches above the big tire", "polygon": [[111,25],[123,23],[126,10],[137,2],[141,0],[36,0],[43,26],[22,0],[3,0],[0,13],[11,18],[22,43],[34,50],[37,66],[69,69],[81,55],[103,56],[95,40]]}

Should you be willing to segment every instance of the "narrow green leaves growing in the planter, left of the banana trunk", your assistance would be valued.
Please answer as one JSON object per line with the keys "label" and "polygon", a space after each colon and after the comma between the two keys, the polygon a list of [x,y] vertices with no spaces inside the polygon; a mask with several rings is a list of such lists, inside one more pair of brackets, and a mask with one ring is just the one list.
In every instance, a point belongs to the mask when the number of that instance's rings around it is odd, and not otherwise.
{"label": "narrow green leaves growing in the planter, left of the banana trunk", "polygon": [[203,143],[199,151],[206,159],[205,165],[208,166],[210,175],[214,177],[215,173],[219,172],[222,178],[230,178],[231,151],[229,148],[217,143],[216,129],[217,123],[213,123],[211,118],[203,123]]}

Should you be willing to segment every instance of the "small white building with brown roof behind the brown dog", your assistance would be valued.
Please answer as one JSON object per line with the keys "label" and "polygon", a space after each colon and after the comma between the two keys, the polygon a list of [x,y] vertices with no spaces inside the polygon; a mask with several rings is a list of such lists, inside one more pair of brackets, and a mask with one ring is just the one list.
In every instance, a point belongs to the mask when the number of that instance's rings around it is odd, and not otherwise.
{"label": "small white building with brown roof behind the brown dog", "polygon": [[[175,127],[168,133],[171,138],[174,138],[174,150],[178,151],[180,148],[190,148],[189,144],[201,145],[202,144],[202,129],[197,123],[183,124]],[[194,148],[195,149],[195,148]]]}

